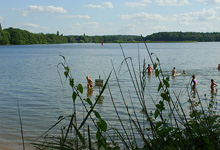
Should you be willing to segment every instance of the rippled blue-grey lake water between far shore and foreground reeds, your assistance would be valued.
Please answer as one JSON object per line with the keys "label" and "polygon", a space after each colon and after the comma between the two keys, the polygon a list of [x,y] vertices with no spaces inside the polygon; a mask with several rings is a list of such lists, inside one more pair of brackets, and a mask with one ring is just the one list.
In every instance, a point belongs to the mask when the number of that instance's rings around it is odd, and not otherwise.
{"label": "rippled blue-grey lake water between far shore and foreground reeds", "polygon": [[[136,73],[139,71],[138,54],[140,54],[141,65],[144,59],[147,64],[151,64],[144,44],[121,45],[126,57],[132,57]],[[147,45],[150,52],[155,53],[160,59],[166,76],[171,74],[173,67],[176,67],[180,73],[184,69],[187,71],[187,75],[170,77],[171,90],[177,94],[183,97],[187,95],[185,87],[193,74],[196,75],[199,83],[197,90],[201,93],[201,98],[207,94],[207,98],[210,99],[211,78],[220,85],[220,71],[217,69],[220,63],[220,43],[150,43]],[[99,89],[94,87],[93,93],[88,95],[86,76],[89,75],[93,81],[100,76],[105,81],[113,68],[112,61],[125,93],[126,102],[130,105],[128,90],[132,95],[131,98],[135,99],[125,63],[120,67],[123,54],[119,44],[0,46],[0,149],[22,149],[18,103],[26,149],[32,149],[28,144],[30,140],[43,134],[57,122],[59,116],[72,113],[71,88],[63,77],[62,67],[57,68],[57,65],[63,62],[60,55],[66,57],[75,83],[83,85],[82,97],[89,96],[93,102],[95,101]],[[61,79],[58,71],[61,73]],[[109,85],[118,111],[126,120],[127,115],[114,74],[111,75]],[[158,79],[154,74],[147,77],[146,86],[146,103],[148,109],[153,110],[150,96],[158,99]],[[120,126],[108,90],[103,96],[102,101],[96,106],[97,111],[113,126]],[[218,95],[217,99],[219,99]],[[187,105],[186,101],[187,97],[182,101],[183,105]],[[139,102],[134,100],[133,103],[135,109],[140,111]],[[81,117],[84,115],[82,108],[77,100],[78,116]]]}

